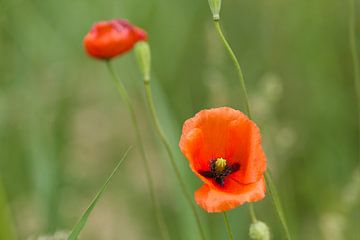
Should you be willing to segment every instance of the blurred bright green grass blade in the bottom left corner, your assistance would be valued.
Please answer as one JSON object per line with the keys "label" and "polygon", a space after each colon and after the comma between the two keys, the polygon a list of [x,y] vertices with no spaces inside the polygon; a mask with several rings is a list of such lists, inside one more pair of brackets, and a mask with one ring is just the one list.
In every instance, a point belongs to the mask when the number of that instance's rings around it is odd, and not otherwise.
{"label": "blurred bright green grass blade in the bottom left corner", "polygon": [[15,228],[5,189],[0,176],[0,239],[15,240]]}

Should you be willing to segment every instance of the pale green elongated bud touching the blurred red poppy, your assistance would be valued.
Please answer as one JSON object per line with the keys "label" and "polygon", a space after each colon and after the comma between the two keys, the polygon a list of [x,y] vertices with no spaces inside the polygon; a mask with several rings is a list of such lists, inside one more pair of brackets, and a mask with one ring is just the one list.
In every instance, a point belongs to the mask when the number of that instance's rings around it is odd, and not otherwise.
{"label": "pale green elongated bud touching the blurred red poppy", "polygon": [[135,46],[135,53],[140,70],[144,75],[145,81],[150,81],[151,52],[147,42],[141,41]]}

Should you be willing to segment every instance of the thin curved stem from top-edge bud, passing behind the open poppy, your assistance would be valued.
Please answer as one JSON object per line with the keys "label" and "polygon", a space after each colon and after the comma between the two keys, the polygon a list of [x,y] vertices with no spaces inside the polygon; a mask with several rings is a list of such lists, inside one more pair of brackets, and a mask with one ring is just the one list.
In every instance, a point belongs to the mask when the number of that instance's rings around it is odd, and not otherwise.
{"label": "thin curved stem from top-edge bud, passing behind the open poppy", "polygon": [[[239,80],[240,80],[241,92],[242,92],[242,96],[243,96],[243,101],[245,102],[245,106],[246,106],[245,113],[249,116],[249,118],[251,118],[249,98],[248,98],[248,95],[247,95],[247,90],[246,90],[246,86],[245,86],[245,80],[244,80],[244,76],[243,76],[239,61],[237,60],[234,51],[231,49],[230,44],[226,40],[226,38],[225,38],[225,36],[224,36],[224,34],[223,34],[222,30],[221,30],[220,22],[215,20],[214,24],[215,24],[215,28],[217,30],[217,33],[219,34],[219,36],[220,36],[220,38],[222,40],[222,43],[224,44],[224,46],[225,46],[231,60],[233,61],[234,65],[235,65],[235,68],[236,68],[236,70],[238,72]],[[270,191],[269,191],[270,196],[271,196],[271,199],[273,201],[273,204],[274,204],[275,210],[277,212],[277,215],[278,215],[278,217],[280,219],[281,225],[283,226],[286,238],[290,240],[291,237],[290,237],[290,233],[289,233],[289,230],[288,230],[287,222],[285,220],[285,215],[284,215],[283,210],[282,210],[280,198],[279,198],[279,196],[277,194],[277,189],[276,189],[276,186],[275,186],[275,184],[274,184],[274,182],[273,182],[273,180],[271,178],[271,174],[269,172],[269,169],[267,169],[267,171],[265,172],[265,179],[266,179],[266,182],[268,183],[268,186],[269,186],[269,189],[270,189]],[[254,215],[254,217],[256,219],[255,212],[251,211],[251,208],[250,208],[250,212],[251,212],[252,215]]]}

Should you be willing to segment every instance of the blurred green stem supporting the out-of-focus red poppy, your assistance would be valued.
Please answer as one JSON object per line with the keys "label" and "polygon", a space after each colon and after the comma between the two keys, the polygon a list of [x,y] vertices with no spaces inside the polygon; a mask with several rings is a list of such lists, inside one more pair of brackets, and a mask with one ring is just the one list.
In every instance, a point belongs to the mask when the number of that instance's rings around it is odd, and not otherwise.
{"label": "blurred green stem supporting the out-of-focus red poppy", "polygon": [[128,110],[129,110],[131,120],[132,120],[133,126],[135,128],[136,138],[137,138],[138,144],[140,146],[141,157],[142,157],[144,168],[145,168],[145,176],[146,176],[146,180],[147,180],[148,187],[149,187],[149,190],[150,190],[150,197],[151,197],[151,201],[153,203],[153,207],[154,207],[154,211],[155,211],[155,217],[156,217],[157,223],[159,225],[161,237],[164,240],[165,239],[170,239],[169,231],[168,231],[167,226],[166,226],[165,221],[164,221],[164,216],[163,216],[163,214],[161,212],[161,209],[158,206],[158,203],[157,203],[157,200],[156,200],[156,192],[155,192],[154,182],[153,182],[151,172],[150,172],[149,161],[148,161],[148,159],[146,157],[146,154],[145,154],[144,143],[143,143],[143,140],[142,140],[142,137],[141,137],[141,134],[140,134],[140,128],[139,128],[139,124],[138,124],[138,121],[137,121],[137,117],[136,117],[136,114],[135,114],[134,107],[132,105],[132,102],[130,101],[129,95],[128,95],[123,83],[121,82],[119,76],[116,74],[114,68],[112,67],[112,65],[110,63],[110,61],[107,61],[106,65],[108,67],[108,70],[109,70],[109,72],[110,72],[110,74],[112,76],[112,80],[114,81],[115,86],[116,86],[121,98],[123,99],[123,101],[125,102]]}

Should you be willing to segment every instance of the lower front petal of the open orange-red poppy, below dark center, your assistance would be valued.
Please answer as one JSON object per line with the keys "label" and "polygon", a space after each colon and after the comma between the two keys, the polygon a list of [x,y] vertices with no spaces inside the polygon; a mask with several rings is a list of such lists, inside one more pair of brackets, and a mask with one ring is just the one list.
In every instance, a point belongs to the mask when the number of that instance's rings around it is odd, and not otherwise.
{"label": "lower front petal of the open orange-red poppy, below dark center", "polygon": [[195,192],[195,201],[207,212],[224,212],[246,202],[256,202],[265,197],[265,180],[242,185],[242,191],[237,194],[218,191],[204,184]]}

